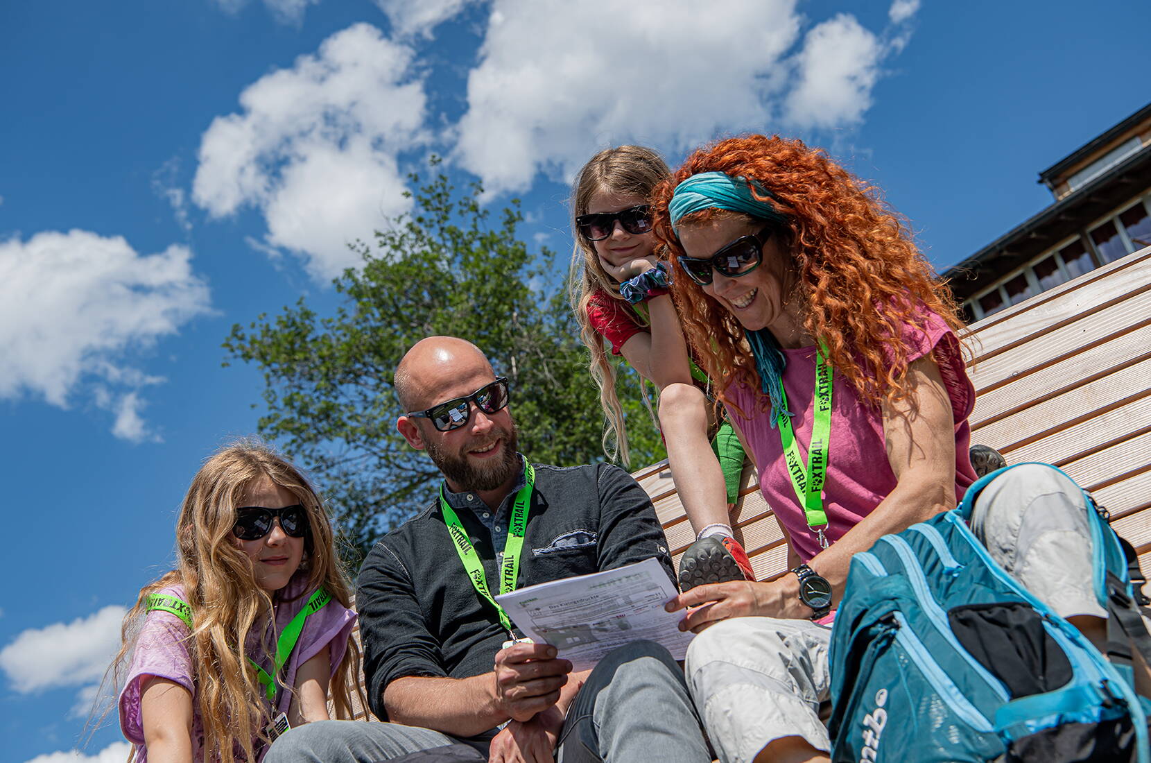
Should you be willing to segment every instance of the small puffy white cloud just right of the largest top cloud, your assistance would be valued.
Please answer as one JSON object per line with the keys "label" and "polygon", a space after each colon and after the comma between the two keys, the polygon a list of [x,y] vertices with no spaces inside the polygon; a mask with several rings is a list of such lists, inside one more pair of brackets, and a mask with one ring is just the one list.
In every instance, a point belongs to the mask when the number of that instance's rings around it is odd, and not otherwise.
{"label": "small puffy white cloud just right of the largest top cloud", "polygon": [[840,14],[807,33],[785,116],[801,127],[855,124],[871,106],[884,48],[854,16]]}

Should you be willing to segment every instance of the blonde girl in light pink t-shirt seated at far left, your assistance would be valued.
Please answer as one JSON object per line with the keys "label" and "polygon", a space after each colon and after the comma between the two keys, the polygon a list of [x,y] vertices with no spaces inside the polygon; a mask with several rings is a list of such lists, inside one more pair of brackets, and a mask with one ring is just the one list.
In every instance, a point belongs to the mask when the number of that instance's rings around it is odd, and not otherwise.
{"label": "blonde girl in light pink t-shirt seated at far left", "polygon": [[[259,761],[287,727],[341,717],[356,613],[323,504],[291,464],[241,442],[192,479],[176,569],[124,617],[114,672],[135,761]],[[128,655],[131,654],[130,663]]]}

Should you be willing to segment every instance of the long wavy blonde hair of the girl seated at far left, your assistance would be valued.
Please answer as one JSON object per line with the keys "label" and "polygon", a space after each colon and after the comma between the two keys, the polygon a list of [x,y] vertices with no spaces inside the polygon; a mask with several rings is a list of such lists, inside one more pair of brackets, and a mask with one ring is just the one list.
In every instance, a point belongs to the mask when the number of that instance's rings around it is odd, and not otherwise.
{"label": "long wavy blonde hair of the girl seated at far left", "polygon": [[[254,761],[252,737],[268,742],[264,726],[269,711],[264,686],[250,667],[244,646],[253,628],[272,628],[273,597],[256,585],[252,562],[234,542],[236,508],[261,479],[291,493],[307,511],[308,536],[300,570],[307,572],[304,594],[325,588],[331,598],[350,606],[348,581],[340,567],[331,525],[323,503],[307,479],[268,445],[239,441],[216,451],[192,478],[176,521],[176,569],[140,590],[124,616],[121,648],[110,671],[122,679],[128,655],[147,611],[147,597],[181,585],[195,612],[189,636],[199,715],[204,725],[204,758],[234,763],[236,747]],[[277,603],[277,602],[276,602]],[[331,678],[336,716],[351,718],[351,692],[358,688],[360,651],[349,638],[348,650]],[[281,682],[283,677],[277,677]],[[116,681],[119,686],[121,680]],[[289,687],[290,690],[290,687]],[[134,753],[136,750],[134,749]]]}

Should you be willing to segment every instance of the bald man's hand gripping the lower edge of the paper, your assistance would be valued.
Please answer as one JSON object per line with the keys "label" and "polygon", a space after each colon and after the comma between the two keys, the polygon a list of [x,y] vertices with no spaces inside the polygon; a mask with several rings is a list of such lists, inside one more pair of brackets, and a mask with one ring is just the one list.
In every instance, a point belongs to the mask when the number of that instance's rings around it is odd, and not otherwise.
{"label": "bald man's hand gripping the lower edge of the paper", "polygon": [[513,643],[496,653],[496,700],[512,720],[531,720],[556,703],[571,670],[551,644]]}

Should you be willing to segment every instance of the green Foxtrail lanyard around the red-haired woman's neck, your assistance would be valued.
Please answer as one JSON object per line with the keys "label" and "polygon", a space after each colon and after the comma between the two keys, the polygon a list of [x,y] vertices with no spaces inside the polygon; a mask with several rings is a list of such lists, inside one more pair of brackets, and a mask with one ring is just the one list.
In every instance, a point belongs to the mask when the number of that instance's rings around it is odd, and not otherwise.
{"label": "green Foxtrail lanyard around the red-haired woman's neck", "polygon": [[828,539],[823,534],[828,525],[828,512],[823,510],[823,483],[828,478],[828,444],[831,440],[831,364],[824,357],[821,344],[815,353],[815,415],[811,421],[811,444],[807,449],[808,460],[795,444],[795,430],[787,415],[787,394],[784,391],[784,380],[779,380],[779,394],[784,407],[779,411],[779,440],[784,447],[784,460],[787,464],[787,475],[799,505],[803,506],[807,526],[815,531],[820,548],[828,548]]}

